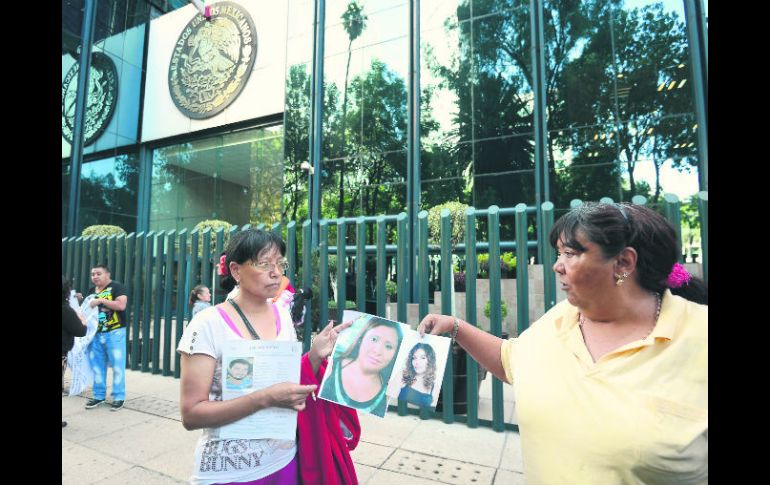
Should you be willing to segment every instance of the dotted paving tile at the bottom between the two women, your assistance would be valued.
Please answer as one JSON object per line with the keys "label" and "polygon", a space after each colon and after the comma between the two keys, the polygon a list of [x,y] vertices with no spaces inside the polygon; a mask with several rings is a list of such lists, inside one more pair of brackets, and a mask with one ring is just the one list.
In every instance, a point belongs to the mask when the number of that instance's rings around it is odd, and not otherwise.
{"label": "dotted paving tile at the bottom between the two women", "polygon": [[492,467],[406,450],[396,450],[382,469],[454,485],[491,485],[495,476]]}

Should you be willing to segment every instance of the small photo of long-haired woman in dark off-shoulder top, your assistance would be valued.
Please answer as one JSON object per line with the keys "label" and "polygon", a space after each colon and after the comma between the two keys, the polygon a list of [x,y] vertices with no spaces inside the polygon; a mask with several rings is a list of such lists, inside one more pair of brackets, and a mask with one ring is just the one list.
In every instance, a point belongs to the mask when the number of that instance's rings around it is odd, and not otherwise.
{"label": "small photo of long-haired woman in dark off-shoulder top", "polygon": [[430,344],[418,343],[406,357],[398,399],[419,407],[430,407],[433,405],[435,384],[436,352]]}

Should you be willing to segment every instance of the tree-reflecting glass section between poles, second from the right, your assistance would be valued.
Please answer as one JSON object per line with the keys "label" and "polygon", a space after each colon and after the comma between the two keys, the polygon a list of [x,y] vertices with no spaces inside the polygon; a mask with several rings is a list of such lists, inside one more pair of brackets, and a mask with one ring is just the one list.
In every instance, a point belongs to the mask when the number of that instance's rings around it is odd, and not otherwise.
{"label": "tree-reflecting glass section between poles, second from the right", "polygon": [[528,2],[421,1],[422,204],[533,204]]}

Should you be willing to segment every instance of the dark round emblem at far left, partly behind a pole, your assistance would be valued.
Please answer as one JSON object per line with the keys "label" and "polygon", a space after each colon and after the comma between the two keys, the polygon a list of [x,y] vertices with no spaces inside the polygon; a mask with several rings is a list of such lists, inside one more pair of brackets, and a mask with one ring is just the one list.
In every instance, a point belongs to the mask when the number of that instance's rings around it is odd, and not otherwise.
{"label": "dark round emblem at far left, partly behind a pole", "polygon": [[[72,129],[75,120],[75,97],[78,90],[80,66],[70,68],[61,86],[61,132],[65,140],[72,143]],[[83,146],[95,142],[110,124],[115,105],[118,103],[118,71],[112,59],[101,52],[91,55],[91,69],[88,76],[88,101],[83,123]]]}

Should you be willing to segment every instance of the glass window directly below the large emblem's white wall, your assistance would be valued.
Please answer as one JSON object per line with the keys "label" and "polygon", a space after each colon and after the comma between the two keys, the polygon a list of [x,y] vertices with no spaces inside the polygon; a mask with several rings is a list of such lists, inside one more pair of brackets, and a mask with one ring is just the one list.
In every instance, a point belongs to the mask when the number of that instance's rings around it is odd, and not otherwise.
{"label": "glass window directly below the large emblem's white wall", "polygon": [[281,220],[283,127],[244,130],[153,150],[151,231]]}

